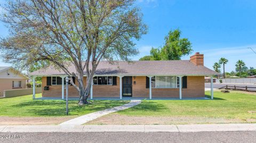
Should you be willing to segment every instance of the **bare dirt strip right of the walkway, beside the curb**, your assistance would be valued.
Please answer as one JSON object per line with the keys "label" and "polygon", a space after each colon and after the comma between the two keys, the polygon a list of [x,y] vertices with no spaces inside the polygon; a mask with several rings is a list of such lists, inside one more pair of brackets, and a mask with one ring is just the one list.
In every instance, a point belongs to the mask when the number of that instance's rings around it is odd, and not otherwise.
{"label": "bare dirt strip right of the walkway, beside the curb", "polygon": [[127,116],[116,113],[105,115],[86,124],[199,124],[199,123],[245,123],[256,122],[255,120],[243,121],[239,119],[225,119],[213,117],[191,116]]}

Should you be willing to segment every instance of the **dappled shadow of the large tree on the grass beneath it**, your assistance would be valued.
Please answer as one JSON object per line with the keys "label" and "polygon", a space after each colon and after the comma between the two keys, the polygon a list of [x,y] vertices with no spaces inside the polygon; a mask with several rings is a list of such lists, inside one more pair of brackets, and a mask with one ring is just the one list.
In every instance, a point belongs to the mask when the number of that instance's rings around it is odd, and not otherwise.
{"label": "dappled shadow of the large tree on the grass beneath it", "polygon": [[[78,106],[76,101],[69,102],[69,115],[83,115],[91,112],[105,110],[119,105],[124,102],[92,102],[84,106]],[[66,115],[66,101],[61,100],[34,100],[32,102],[19,103],[13,107],[26,108],[27,112],[36,116],[63,116]],[[81,113],[81,114],[79,114]]]}

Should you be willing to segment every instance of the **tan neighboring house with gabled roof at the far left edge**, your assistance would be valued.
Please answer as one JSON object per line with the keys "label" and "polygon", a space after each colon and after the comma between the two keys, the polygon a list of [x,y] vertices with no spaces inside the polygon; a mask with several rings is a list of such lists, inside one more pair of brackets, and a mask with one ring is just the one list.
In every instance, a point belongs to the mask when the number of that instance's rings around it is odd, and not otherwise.
{"label": "tan neighboring house with gabled roof at the far left edge", "polygon": [[0,66],[0,96],[4,90],[26,88],[28,78],[11,66]]}

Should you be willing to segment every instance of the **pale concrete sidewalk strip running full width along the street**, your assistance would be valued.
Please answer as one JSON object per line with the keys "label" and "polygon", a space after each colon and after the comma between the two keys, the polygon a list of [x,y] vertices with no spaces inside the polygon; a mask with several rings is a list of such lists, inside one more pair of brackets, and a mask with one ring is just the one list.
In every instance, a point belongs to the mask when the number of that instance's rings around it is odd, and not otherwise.
{"label": "pale concrete sidewalk strip running full width along the street", "polygon": [[210,132],[256,131],[254,124],[1,125],[0,132]]}

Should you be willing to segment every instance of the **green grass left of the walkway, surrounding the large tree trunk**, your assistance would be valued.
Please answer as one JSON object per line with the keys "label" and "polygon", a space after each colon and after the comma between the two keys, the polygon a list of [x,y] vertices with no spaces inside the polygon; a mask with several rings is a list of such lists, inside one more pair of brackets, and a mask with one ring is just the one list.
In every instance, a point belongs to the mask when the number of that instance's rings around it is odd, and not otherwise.
{"label": "green grass left of the walkway, surrounding the large tree trunk", "polygon": [[[81,107],[77,102],[69,101],[69,115],[84,115],[129,103],[117,100],[92,100],[91,104]],[[66,101],[33,100],[32,95],[0,98],[0,116],[66,116]]]}

